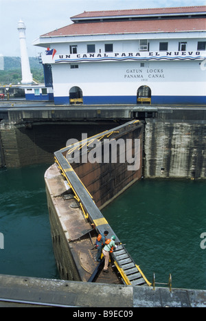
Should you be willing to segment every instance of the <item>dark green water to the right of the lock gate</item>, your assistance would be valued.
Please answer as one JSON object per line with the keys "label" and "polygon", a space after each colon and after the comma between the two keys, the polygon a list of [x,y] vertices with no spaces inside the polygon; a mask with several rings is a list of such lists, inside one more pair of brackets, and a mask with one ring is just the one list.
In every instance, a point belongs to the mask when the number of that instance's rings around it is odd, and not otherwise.
{"label": "dark green water to the right of the lock gate", "polygon": [[142,179],[102,214],[150,282],[206,289],[205,195],[205,181]]}

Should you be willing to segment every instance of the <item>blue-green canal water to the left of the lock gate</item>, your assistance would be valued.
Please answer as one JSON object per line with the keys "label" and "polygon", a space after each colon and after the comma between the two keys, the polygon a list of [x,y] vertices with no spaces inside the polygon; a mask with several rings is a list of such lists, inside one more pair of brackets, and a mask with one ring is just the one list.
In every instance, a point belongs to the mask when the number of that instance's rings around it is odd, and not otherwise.
{"label": "blue-green canal water to the left of the lock gate", "polygon": [[0,170],[0,274],[58,278],[44,173],[48,165]]}

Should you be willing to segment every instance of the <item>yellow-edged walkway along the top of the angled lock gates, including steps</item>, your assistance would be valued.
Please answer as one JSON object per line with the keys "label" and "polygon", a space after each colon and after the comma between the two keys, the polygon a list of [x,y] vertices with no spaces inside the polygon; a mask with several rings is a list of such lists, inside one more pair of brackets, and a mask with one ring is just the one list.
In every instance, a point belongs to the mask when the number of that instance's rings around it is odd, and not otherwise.
{"label": "yellow-edged walkway along the top of the angled lock gates, including steps", "polygon": [[[81,142],[81,146],[83,146],[83,144],[87,144],[88,146],[91,140],[102,140],[103,137],[112,137],[113,139],[116,139],[117,137],[119,137],[120,133],[129,131],[131,126],[139,126],[139,121],[131,121],[124,125],[115,127],[115,131],[111,129],[109,131],[104,131],[103,133],[94,135],[93,137],[89,137],[87,140]],[[133,286],[150,286],[151,283],[141,272],[139,266],[135,264],[130,254],[128,254],[126,248],[120,242],[117,235],[102,215],[102,212],[100,212],[99,208],[96,206],[95,202],[93,201],[93,197],[90,195],[87,188],[82,184],[82,181],[76,174],[75,170],[73,170],[73,168],[71,167],[71,164],[69,164],[67,153],[70,153],[70,149],[74,151],[74,148],[81,148],[81,146],[79,144],[73,144],[73,146],[66,146],[60,151],[56,151],[54,153],[55,162],[58,165],[58,168],[60,169],[62,175],[67,180],[67,184],[69,185],[71,190],[73,190],[73,194],[80,204],[80,208],[82,210],[84,218],[86,220],[89,220],[89,222],[93,224],[93,226],[95,226],[95,230],[98,234],[104,233],[104,231],[107,230],[108,235],[115,235],[115,243],[119,245],[117,249],[111,254],[111,258],[119,274],[121,275],[123,283],[125,285]],[[89,279],[89,282],[93,282],[96,274],[98,274],[98,269],[95,269],[91,278]]]}

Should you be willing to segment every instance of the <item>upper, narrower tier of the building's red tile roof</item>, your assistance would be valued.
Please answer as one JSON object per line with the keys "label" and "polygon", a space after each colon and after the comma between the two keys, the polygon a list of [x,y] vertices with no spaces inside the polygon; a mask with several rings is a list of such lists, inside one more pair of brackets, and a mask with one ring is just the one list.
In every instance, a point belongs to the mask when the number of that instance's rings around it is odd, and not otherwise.
{"label": "upper, narrower tier of the building's red tile roof", "polygon": [[106,11],[89,11],[83,12],[73,18],[91,18],[97,16],[127,16],[127,15],[143,15],[143,14],[172,14],[181,12],[205,12],[206,5],[196,5],[193,7],[176,7],[176,8],[148,8],[148,9],[130,9],[130,10],[106,10]]}

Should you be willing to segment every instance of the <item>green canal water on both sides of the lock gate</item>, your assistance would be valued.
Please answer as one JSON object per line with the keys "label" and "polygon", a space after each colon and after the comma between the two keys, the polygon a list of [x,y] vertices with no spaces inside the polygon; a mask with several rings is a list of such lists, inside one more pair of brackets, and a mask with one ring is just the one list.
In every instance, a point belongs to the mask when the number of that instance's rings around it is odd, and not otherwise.
{"label": "green canal water on both sides of the lock gate", "polygon": [[[0,274],[58,278],[44,173],[49,165],[0,170]],[[206,181],[142,179],[102,210],[150,282],[206,289]],[[205,242],[206,244],[206,242]]]}

